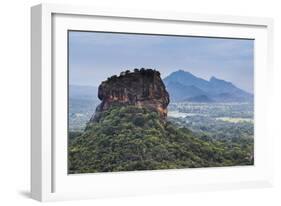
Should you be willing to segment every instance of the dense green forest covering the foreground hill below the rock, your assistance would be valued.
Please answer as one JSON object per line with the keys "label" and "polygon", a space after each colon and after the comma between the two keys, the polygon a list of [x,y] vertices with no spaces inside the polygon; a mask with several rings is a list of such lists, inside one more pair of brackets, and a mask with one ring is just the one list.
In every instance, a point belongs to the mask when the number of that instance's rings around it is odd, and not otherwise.
{"label": "dense green forest covering the foreground hill below the rock", "polygon": [[253,141],[198,135],[136,106],[113,106],[69,133],[70,174],[253,164]]}

